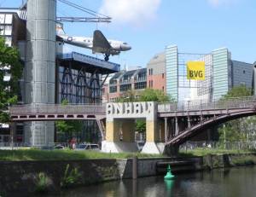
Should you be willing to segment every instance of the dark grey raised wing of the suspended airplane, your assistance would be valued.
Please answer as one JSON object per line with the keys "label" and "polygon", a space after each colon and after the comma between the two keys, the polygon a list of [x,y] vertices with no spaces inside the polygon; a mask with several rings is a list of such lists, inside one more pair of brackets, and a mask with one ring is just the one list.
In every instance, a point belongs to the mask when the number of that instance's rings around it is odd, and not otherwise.
{"label": "dark grey raised wing of the suspended airplane", "polygon": [[93,43],[93,46],[92,46],[93,53],[107,54],[111,49],[111,45],[110,43],[108,43],[107,38],[105,38],[103,33],[99,30],[94,31],[92,43]]}

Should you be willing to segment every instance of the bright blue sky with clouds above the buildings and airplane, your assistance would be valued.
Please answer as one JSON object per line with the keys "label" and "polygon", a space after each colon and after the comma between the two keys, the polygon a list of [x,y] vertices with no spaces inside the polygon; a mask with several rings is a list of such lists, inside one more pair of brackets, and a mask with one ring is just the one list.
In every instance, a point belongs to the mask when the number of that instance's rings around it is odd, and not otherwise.
{"label": "bright blue sky with clouds above the buildings and airplane", "polygon": [[[180,52],[209,53],[227,47],[232,59],[256,61],[255,0],[72,0],[113,17],[110,24],[65,23],[70,35],[92,36],[97,28],[107,38],[130,43],[132,49],[110,61],[145,67],[166,45]],[[1,7],[17,7],[21,0],[0,0]],[[58,3],[58,15],[84,16]],[[89,16],[89,15],[86,15]],[[91,55],[88,49],[72,48]],[[103,58],[102,55],[98,57]]]}

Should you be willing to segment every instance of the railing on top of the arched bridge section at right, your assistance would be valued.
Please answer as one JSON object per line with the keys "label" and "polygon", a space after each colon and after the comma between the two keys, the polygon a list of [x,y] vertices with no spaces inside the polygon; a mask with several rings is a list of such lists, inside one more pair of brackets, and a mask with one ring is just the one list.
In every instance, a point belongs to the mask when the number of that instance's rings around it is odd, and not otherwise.
{"label": "railing on top of the arched bridge section at right", "polygon": [[256,107],[256,96],[234,97],[225,100],[214,100],[211,102],[208,102],[207,100],[166,102],[158,105],[158,112],[164,113],[243,107]]}

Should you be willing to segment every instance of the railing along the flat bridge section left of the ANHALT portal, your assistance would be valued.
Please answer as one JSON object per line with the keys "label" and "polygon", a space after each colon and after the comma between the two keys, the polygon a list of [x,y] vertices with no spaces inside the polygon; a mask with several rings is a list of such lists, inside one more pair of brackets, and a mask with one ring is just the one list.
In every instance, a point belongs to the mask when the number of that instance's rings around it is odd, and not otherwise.
{"label": "railing along the flat bridge section left of the ANHALT portal", "polygon": [[9,107],[9,113],[14,114],[68,114],[68,113],[105,113],[105,105],[55,105],[55,104],[32,104]]}

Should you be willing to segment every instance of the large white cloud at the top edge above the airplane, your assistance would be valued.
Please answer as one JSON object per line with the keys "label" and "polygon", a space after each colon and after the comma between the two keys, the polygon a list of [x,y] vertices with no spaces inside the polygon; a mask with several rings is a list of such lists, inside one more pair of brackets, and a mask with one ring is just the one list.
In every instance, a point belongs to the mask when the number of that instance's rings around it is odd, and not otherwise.
{"label": "large white cloud at the top edge above the airplane", "polygon": [[114,23],[141,26],[154,19],[161,0],[102,0],[101,14],[112,17]]}

